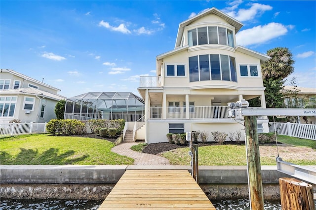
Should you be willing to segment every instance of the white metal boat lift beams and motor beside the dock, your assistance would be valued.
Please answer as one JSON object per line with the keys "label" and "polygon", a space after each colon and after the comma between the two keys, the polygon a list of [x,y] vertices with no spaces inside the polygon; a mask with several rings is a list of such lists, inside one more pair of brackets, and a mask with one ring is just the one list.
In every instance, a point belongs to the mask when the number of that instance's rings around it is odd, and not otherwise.
{"label": "white metal boat lift beams and motor beside the dock", "polygon": [[[244,99],[228,103],[229,117],[242,119],[243,116],[316,116],[313,108],[247,108],[249,103]],[[277,141],[277,140],[276,140]],[[316,166],[300,166],[283,161],[276,157],[277,171],[316,184]]]}

